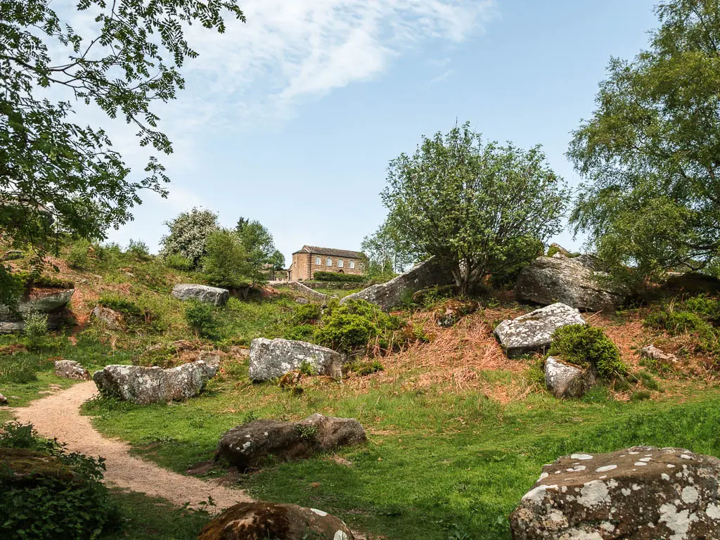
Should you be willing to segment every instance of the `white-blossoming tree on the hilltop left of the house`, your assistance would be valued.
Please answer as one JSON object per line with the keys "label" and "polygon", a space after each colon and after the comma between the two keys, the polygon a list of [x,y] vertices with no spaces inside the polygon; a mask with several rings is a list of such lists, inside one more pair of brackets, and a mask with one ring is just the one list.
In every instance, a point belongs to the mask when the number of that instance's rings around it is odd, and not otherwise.
{"label": "white-blossoming tree on the hilltop left of the house", "polygon": [[205,245],[210,235],[217,230],[217,214],[210,210],[193,208],[182,212],[172,221],[165,222],[170,233],[161,238],[160,256],[179,255],[192,261],[197,267],[207,253]]}

